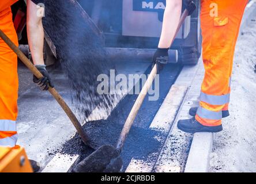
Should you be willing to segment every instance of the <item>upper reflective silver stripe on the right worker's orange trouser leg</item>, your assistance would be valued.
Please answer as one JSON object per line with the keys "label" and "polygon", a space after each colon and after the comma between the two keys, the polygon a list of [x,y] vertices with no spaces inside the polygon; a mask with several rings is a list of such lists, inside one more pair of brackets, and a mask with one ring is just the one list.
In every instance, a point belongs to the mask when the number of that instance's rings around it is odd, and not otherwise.
{"label": "upper reflective silver stripe on the right worker's orange trouser leg", "polygon": [[230,94],[209,95],[201,92],[199,100],[210,105],[224,105],[229,103]]}

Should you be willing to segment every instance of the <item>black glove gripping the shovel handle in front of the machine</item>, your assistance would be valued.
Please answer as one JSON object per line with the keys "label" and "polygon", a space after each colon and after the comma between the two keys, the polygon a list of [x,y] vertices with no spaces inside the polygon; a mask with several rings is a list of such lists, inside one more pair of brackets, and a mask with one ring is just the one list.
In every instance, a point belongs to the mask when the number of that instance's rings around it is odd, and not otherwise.
{"label": "black glove gripping the shovel handle in front of the machine", "polygon": [[159,72],[163,70],[165,64],[167,64],[168,62],[168,50],[169,48],[157,48],[153,56],[152,68],[156,64],[157,74],[159,74]]}

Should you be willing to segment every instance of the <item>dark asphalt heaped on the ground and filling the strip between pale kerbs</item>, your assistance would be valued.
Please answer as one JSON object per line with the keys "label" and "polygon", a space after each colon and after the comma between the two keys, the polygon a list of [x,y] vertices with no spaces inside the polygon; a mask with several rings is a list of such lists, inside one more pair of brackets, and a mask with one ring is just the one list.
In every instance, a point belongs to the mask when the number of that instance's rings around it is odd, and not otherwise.
{"label": "dark asphalt heaped on the ground and filling the strip between pale kerbs", "polygon": [[[149,128],[150,123],[155,117],[157,110],[160,108],[170,87],[175,82],[176,77],[182,67],[169,64],[160,74],[160,93],[157,101],[149,101],[148,95],[145,98],[137,117],[134,120],[133,127],[125,142],[122,151],[122,159],[124,162],[123,171],[125,171],[132,158],[144,160],[145,162],[154,162],[157,159],[157,153],[160,151],[163,143],[158,141],[156,137],[166,137],[167,133],[154,131]],[[150,67],[145,71],[148,74]],[[138,95],[126,95],[119,102],[118,106],[112,111],[107,120],[91,121],[84,125],[84,129],[89,134],[92,142],[98,147],[105,144],[115,145],[116,140],[122,130],[123,124],[132,108]],[[162,139],[163,140],[163,139]],[[85,147],[80,137],[77,135],[63,144],[62,153],[79,154],[81,158],[85,158],[92,153],[92,149]]]}

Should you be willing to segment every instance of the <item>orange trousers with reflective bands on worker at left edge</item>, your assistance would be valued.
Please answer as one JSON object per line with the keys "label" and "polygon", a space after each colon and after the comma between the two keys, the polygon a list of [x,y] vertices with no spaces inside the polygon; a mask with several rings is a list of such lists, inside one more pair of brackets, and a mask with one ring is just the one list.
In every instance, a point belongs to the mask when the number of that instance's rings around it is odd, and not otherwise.
{"label": "orange trousers with reflective bands on worker at left edge", "polygon": [[[10,9],[14,2],[16,0],[0,1],[0,29],[18,45]],[[16,145],[17,99],[17,55],[0,39],[0,146]]]}

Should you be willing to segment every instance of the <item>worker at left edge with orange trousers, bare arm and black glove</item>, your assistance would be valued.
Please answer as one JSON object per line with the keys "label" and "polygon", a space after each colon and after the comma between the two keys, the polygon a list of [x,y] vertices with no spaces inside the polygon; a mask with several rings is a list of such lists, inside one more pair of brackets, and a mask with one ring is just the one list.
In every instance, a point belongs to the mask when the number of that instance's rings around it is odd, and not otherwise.
{"label": "worker at left edge with orange trousers, bare arm and black glove", "polygon": [[[0,29],[18,46],[17,34],[12,20],[12,10],[10,8],[16,1],[0,1]],[[43,90],[47,90],[48,85],[52,87],[53,85],[43,60],[44,32],[42,16],[37,11],[38,1],[27,1],[27,32],[33,63],[44,76],[41,79],[37,79],[34,76],[33,81]],[[0,146],[14,147],[18,137],[16,129],[16,118],[18,115],[17,55],[2,39],[0,39],[0,87]],[[32,166],[34,165],[33,163],[35,162],[32,162]]]}

